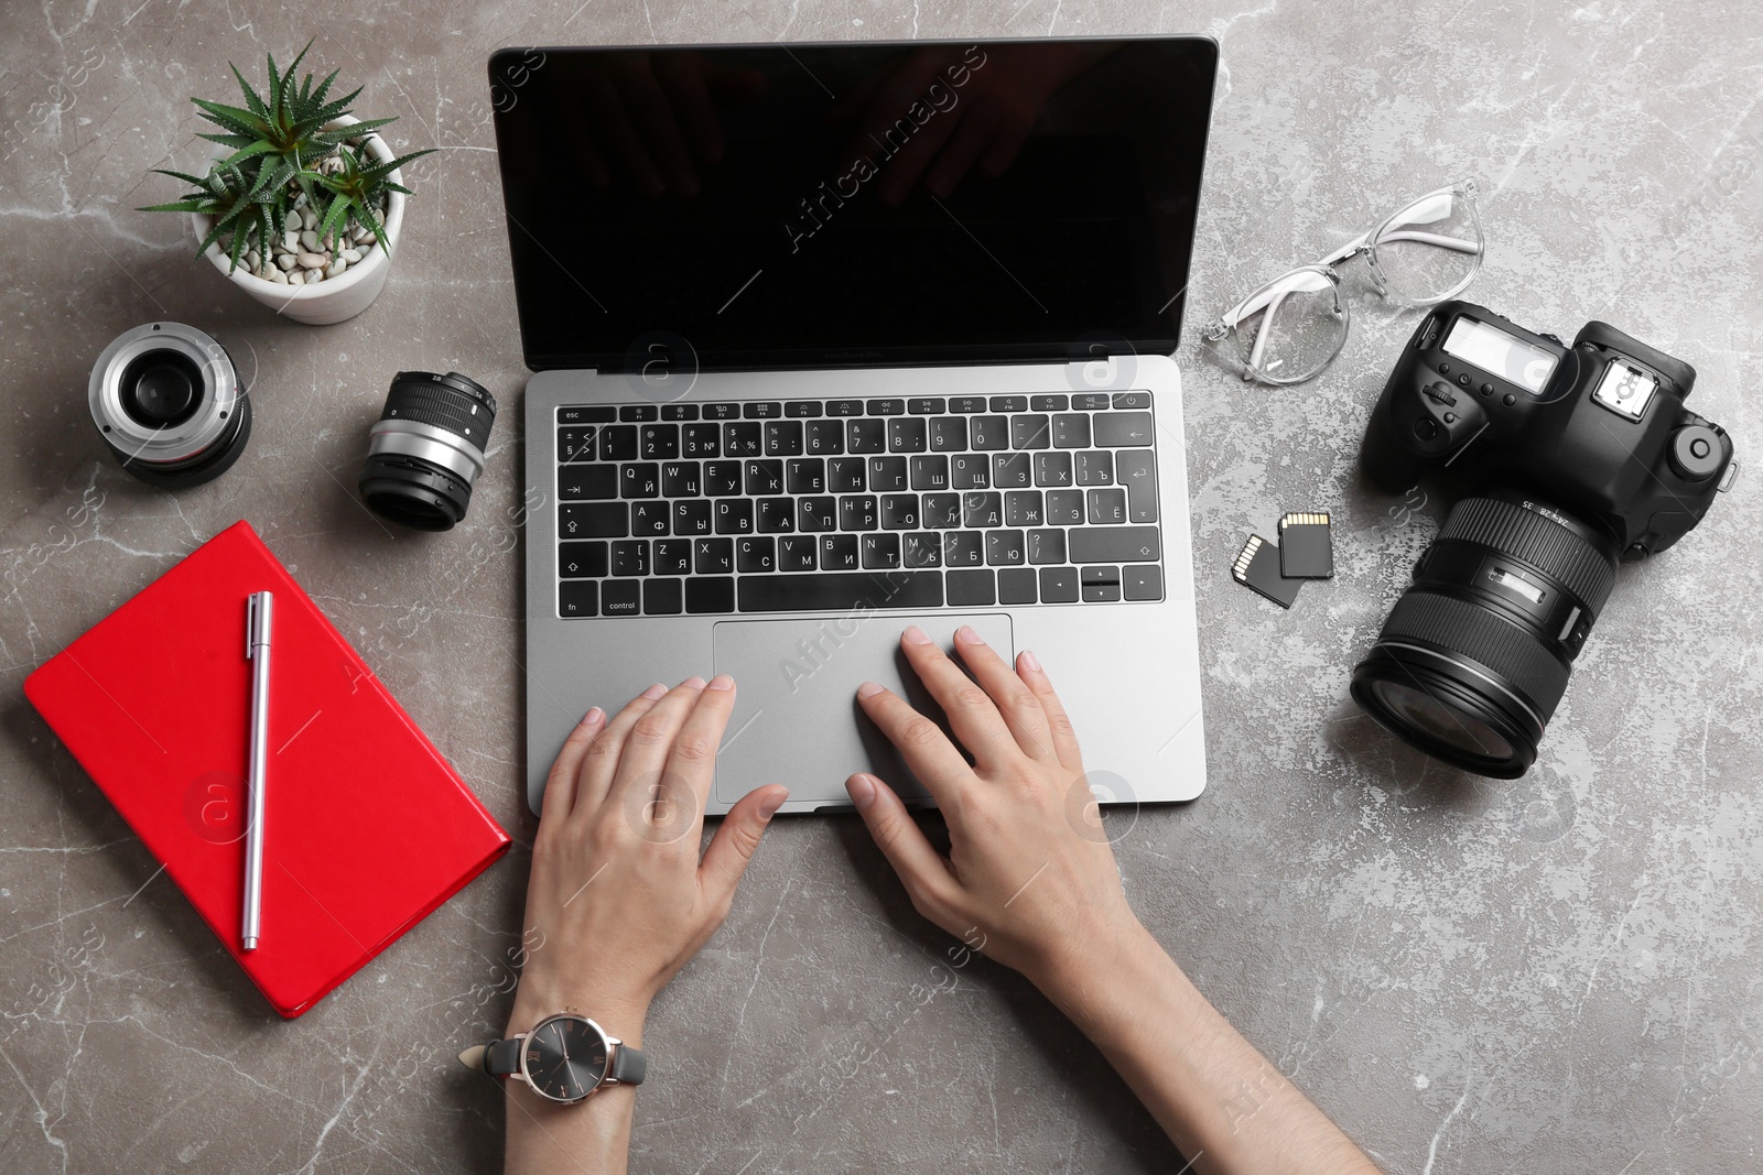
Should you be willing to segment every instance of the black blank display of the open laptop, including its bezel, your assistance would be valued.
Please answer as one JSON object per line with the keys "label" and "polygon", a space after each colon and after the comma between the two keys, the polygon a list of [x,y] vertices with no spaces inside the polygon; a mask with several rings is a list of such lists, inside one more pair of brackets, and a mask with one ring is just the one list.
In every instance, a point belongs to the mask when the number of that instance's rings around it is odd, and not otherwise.
{"label": "black blank display of the open laptop, including its bezel", "polygon": [[502,49],[527,366],[1176,349],[1202,37]]}

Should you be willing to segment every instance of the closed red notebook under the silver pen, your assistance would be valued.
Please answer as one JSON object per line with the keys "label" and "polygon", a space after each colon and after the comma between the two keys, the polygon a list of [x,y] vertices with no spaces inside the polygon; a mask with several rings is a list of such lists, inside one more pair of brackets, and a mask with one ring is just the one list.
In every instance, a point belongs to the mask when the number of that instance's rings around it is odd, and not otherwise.
{"label": "closed red notebook under the silver pen", "polygon": [[[261,590],[275,594],[263,942],[242,951],[245,597]],[[508,833],[243,521],[32,673],[25,694],[284,1016],[508,851]]]}

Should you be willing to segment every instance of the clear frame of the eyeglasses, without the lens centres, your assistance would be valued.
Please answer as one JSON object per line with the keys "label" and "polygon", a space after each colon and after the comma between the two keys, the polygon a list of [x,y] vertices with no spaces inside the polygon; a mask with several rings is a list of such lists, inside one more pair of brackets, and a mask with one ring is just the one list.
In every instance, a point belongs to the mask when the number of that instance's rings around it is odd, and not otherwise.
{"label": "clear frame of the eyeglasses, without the lens centres", "polygon": [[[1433,307],[1449,301],[1476,280],[1486,255],[1486,236],[1481,229],[1481,213],[1476,210],[1476,181],[1463,180],[1405,201],[1375,227],[1366,229],[1315,264],[1289,270],[1236,303],[1202,331],[1202,338],[1213,344],[1232,338],[1245,381],[1287,386],[1313,379],[1340,354],[1352,326],[1350,303],[1340,289],[1340,266],[1347,261],[1363,255],[1370,270],[1372,287],[1386,301],[1405,307]],[[1470,236],[1430,233],[1423,227],[1456,217],[1458,208],[1467,213],[1458,217],[1462,220],[1458,227],[1470,229],[1472,240]],[[1428,252],[1437,255],[1465,254],[1467,271],[1462,277],[1453,275],[1454,280],[1439,282],[1446,285],[1444,289],[1419,287],[1412,275],[1402,275],[1400,266],[1393,264],[1391,254],[1396,252],[1393,248],[1396,245],[1432,247]],[[1280,351],[1273,344],[1285,329],[1278,324],[1282,305],[1306,296],[1320,307],[1312,317],[1333,317],[1331,322],[1320,322],[1320,328],[1331,331],[1331,336],[1324,336],[1313,347],[1308,361],[1298,368],[1276,372],[1273,368],[1282,366],[1283,359],[1271,356]]]}

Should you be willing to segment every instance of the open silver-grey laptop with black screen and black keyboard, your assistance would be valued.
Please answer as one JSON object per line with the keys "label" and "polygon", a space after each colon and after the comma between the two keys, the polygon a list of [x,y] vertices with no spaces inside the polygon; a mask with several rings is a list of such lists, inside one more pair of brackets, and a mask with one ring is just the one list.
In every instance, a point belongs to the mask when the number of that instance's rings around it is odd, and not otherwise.
{"label": "open silver-grey laptop with black screen and black keyboard", "polygon": [[709,812],[931,798],[855,705],[973,625],[1102,802],[1206,786],[1181,372],[1204,37],[504,49],[527,798],[591,705],[730,673]]}

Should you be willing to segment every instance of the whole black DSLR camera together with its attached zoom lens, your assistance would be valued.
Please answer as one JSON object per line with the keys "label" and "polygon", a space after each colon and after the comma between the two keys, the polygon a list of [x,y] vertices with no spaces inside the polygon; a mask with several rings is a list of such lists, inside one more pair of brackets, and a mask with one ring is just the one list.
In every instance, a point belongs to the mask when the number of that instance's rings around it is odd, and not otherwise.
{"label": "whole black DSLR camera together with its attached zoom lens", "polygon": [[1469,486],[1414,567],[1354,699],[1403,742],[1518,779],[1617,581],[1708,513],[1738,472],[1684,407],[1696,372],[1604,322],[1571,347],[1447,301],[1403,347],[1361,465],[1391,493]]}

